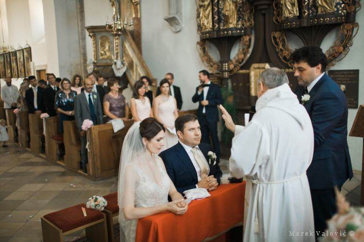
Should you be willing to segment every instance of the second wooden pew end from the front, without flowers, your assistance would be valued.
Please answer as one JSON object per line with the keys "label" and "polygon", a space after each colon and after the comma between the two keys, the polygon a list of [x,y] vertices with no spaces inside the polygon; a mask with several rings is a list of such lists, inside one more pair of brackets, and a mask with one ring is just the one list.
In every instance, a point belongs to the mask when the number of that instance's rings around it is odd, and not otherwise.
{"label": "second wooden pew end from the front, without flowers", "polygon": [[76,122],[74,120],[63,121],[63,129],[65,130],[63,134],[63,143],[66,152],[64,156],[65,165],[73,171],[78,171],[81,161],[81,141],[80,137],[78,136]]}

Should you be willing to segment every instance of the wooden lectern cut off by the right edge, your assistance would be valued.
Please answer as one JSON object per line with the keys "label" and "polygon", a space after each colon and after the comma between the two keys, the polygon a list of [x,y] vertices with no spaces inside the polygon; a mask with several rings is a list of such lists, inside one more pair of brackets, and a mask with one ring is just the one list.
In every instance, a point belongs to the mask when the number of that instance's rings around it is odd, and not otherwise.
{"label": "wooden lectern cut off by the right edge", "polygon": [[[349,136],[364,138],[364,104],[359,106],[358,113],[356,113],[353,126],[351,127]],[[360,195],[360,205],[364,206],[364,139],[363,139],[363,161],[362,161],[362,188]]]}

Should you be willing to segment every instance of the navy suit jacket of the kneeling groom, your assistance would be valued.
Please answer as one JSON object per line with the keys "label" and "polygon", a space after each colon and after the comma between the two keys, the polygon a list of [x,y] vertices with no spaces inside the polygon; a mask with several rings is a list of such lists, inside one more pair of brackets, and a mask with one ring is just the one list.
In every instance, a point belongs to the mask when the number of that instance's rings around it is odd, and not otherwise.
{"label": "navy suit jacket of the kneeling groom", "polygon": [[[211,146],[200,143],[199,148],[205,156],[206,161],[209,161],[207,153],[212,151]],[[196,169],[180,142],[178,142],[177,145],[164,150],[159,154],[159,156],[164,162],[168,176],[171,178],[173,184],[176,186],[177,191],[180,194],[183,194],[183,192],[186,190],[196,188],[196,184],[199,182],[197,179]],[[222,172],[220,166],[218,165],[218,161],[215,165],[213,165],[213,162],[211,162],[209,166],[209,176],[214,175],[220,184]]]}

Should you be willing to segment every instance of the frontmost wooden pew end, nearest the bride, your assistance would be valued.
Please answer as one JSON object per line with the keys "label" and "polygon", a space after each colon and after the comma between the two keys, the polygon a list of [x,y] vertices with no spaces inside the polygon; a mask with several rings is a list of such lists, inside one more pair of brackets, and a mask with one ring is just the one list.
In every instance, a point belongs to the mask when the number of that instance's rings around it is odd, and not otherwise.
{"label": "frontmost wooden pew end, nearest the bride", "polygon": [[[127,130],[133,123],[133,120],[125,121],[125,128],[118,131],[120,135],[117,139],[124,140]],[[89,141],[87,171],[91,179],[99,180],[118,174],[120,152],[117,150],[121,148],[122,143],[116,142],[115,138],[112,138],[113,135],[111,124],[92,126],[87,131]]]}

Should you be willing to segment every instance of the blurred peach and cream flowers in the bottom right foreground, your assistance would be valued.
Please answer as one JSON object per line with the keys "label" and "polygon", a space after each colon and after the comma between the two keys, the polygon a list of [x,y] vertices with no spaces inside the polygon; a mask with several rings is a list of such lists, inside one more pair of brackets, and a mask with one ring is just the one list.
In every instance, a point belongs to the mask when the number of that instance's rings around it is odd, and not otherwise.
{"label": "blurred peach and cream flowers in the bottom right foreground", "polygon": [[337,213],[328,220],[328,229],[322,233],[322,242],[360,242],[364,241],[364,208],[350,207],[337,188],[335,188]]}

